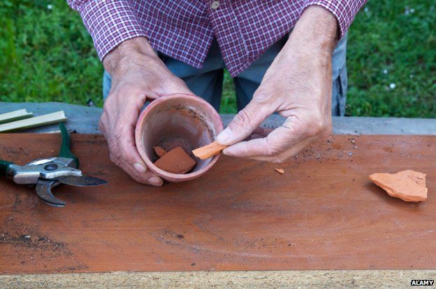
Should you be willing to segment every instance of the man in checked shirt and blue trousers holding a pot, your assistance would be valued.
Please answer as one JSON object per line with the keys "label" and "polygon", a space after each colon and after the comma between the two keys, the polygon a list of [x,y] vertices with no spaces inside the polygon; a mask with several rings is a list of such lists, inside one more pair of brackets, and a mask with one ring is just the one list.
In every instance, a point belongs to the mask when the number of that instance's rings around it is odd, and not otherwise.
{"label": "man in checked shirt and blue trousers holding a pot", "polygon": [[[328,136],[331,114],[344,114],[346,32],[365,0],[68,3],[80,12],[107,71],[99,126],[110,158],[140,183],[162,184],[135,146],[146,99],[194,93],[218,109],[224,67],[240,109],[217,137],[228,145],[226,155],[283,162]],[[273,113],[284,124],[245,141]]]}

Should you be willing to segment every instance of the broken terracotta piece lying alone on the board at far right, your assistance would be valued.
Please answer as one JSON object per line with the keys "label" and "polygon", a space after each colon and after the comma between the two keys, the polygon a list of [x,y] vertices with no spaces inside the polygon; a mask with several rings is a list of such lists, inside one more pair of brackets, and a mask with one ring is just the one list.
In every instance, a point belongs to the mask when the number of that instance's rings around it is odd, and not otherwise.
{"label": "broken terracotta piece lying alone on the board at far right", "polygon": [[427,199],[426,174],[419,171],[399,171],[397,174],[372,174],[370,180],[391,197],[405,202],[422,202]]}

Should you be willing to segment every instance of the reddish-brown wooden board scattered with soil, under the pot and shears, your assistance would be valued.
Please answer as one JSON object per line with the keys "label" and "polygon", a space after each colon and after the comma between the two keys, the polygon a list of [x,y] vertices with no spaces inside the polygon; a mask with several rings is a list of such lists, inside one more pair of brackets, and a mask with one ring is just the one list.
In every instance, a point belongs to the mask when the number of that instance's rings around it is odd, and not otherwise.
{"label": "reddish-brown wooden board scattered with soil, under the pot and shears", "polygon": [[[0,157],[24,164],[59,143],[3,134]],[[436,268],[435,136],[335,136],[286,164],[221,157],[202,178],[161,188],[111,164],[102,136],[72,143],[82,170],[110,185],[55,188],[68,203],[57,209],[1,178],[1,273]],[[428,174],[427,202],[368,180],[402,169]]]}

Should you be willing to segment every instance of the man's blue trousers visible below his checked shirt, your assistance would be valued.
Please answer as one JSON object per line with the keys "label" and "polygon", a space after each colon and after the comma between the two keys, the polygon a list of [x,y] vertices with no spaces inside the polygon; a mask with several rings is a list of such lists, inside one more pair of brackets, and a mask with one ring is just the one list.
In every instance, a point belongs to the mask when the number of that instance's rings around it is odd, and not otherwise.
{"label": "man's blue trousers visible below his checked shirt", "polygon": [[[233,78],[238,111],[244,108],[252,99],[254,92],[261,83],[263,75],[277,56],[277,53],[282,50],[286,40],[287,37],[284,37],[277,41],[245,71],[242,71],[238,76]],[[213,41],[201,69],[196,69],[162,53],[158,53],[158,55],[175,76],[184,80],[192,92],[199,97],[203,97],[203,99],[219,111],[225,65],[216,41]],[[347,35],[337,43],[337,47],[333,52],[332,115],[344,115],[345,113],[345,102],[347,100],[346,55]],[[110,75],[105,71],[103,75],[103,99],[108,97],[110,83]]]}

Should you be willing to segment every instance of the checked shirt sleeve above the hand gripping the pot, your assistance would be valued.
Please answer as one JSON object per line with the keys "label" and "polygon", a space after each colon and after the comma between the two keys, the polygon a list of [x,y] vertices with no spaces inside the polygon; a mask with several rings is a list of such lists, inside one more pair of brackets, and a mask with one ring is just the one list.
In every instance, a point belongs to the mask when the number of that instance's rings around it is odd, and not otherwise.
{"label": "checked shirt sleeve above the hand gripping the pot", "polygon": [[78,10],[92,36],[100,60],[119,43],[146,36],[130,0],[67,0]]}

